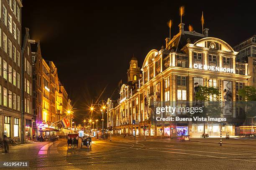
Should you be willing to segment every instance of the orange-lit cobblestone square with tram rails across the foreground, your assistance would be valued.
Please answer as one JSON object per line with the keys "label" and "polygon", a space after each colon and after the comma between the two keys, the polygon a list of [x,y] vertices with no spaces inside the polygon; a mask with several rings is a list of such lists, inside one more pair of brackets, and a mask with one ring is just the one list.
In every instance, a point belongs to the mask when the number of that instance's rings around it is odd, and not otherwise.
{"label": "orange-lit cobblestone square with tram rails across the foreground", "polygon": [[92,149],[88,150],[81,148],[80,142],[78,148],[68,149],[67,141],[59,140],[11,147],[10,153],[0,155],[0,160],[29,161],[27,169],[35,170],[255,170],[256,140],[232,142],[236,145],[113,137],[112,142],[93,139]]}

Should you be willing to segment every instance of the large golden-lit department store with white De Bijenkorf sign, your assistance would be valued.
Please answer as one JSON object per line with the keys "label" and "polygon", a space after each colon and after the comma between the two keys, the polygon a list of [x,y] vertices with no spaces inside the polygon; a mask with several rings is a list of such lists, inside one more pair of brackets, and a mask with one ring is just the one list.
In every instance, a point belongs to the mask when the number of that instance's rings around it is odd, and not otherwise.
{"label": "large golden-lit department store with white De Bijenkorf sign", "polygon": [[[200,136],[204,129],[210,136],[220,135],[220,122],[192,121],[153,121],[154,109],[165,107],[194,107],[195,86],[215,87],[220,96],[209,96],[210,101],[223,101],[224,107],[220,115],[227,117],[223,133],[235,135],[235,125],[232,123],[236,115],[237,91],[248,85],[248,64],[236,62],[238,52],[225,41],[208,36],[205,28],[203,34],[184,30],[184,24],[179,24],[179,33],[172,40],[166,38],[166,46],[161,50],[151,50],[146,55],[141,73],[137,81],[129,75],[128,83],[120,88],[117,98],[108,99],[107,123],[113,126],[114,134],[144,135],[146,125],[147,136],[170,136],[170,126],[174,125],[173,136],[185,132],[187,135]],[[131,62],[136,61],[134,58]],[[239,64],[244,68],[244,74],[237,74]],[[130,68],[133,64],[130,63]],[[138,66],[136,66],[138,67]],[[196,84],[195,84],[196,83]],[[226,99],[229,91],[229,99]],[[240,100],[240,99],[238,99]],[[182,111],[174,115],[187,117]],[[134,125],[133,122],[140,122]]]}

